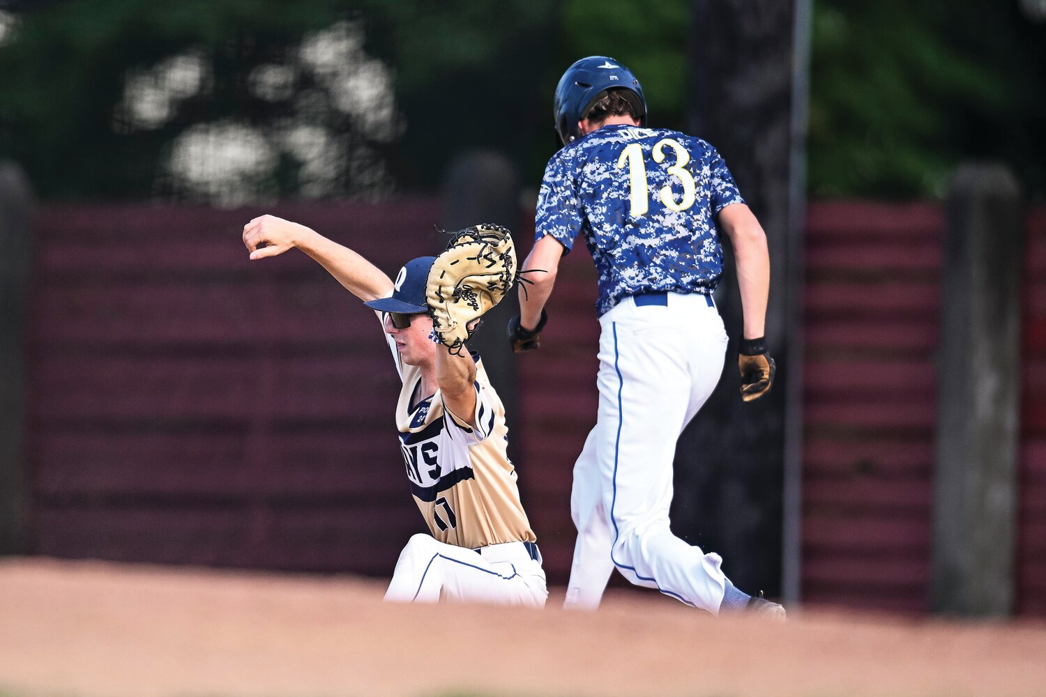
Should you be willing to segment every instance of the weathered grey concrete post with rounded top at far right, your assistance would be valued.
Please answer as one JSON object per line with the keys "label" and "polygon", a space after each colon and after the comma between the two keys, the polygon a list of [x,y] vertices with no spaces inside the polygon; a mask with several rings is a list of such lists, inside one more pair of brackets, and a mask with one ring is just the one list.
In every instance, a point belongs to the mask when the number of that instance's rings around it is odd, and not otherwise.
{"label": "weathered grey concrete post with rounded top at far right", "polygon": [[1024,206],[1002,165],[964,165],[946,204],[930,606],[1014,607]]}

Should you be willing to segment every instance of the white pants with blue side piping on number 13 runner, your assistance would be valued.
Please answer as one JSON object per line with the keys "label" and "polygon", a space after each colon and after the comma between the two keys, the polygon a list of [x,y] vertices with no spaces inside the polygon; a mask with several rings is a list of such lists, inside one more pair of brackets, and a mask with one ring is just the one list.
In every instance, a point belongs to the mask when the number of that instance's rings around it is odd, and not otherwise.
{"label": "white pants with blue side piping on number 13 runner", "polygon": [[719,613],[722,559],[672,534],[676,441],[714,390],[727,335],[703,295],[627,298],[601,318],[599,414],[574,465],[577,528],[564,603],[594,609],[616,567],[634,584]]}

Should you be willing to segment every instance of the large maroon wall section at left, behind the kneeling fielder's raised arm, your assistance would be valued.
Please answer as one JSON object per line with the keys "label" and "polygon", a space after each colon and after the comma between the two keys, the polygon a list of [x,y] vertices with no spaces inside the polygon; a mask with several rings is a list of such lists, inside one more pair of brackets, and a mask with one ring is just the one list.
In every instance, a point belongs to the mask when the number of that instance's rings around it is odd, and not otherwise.
{"label": "large maroon wall section at left, behind the kneeling fielder's raised arm", "polygon": [[[420,529],[381,328],[258,210],[49,207],[29,328],[31,552],[387,574]],[[280,207],[392,273],[433,202]]]}

